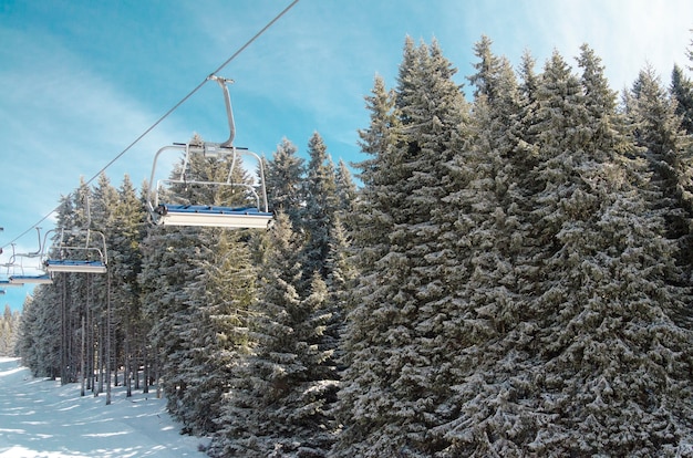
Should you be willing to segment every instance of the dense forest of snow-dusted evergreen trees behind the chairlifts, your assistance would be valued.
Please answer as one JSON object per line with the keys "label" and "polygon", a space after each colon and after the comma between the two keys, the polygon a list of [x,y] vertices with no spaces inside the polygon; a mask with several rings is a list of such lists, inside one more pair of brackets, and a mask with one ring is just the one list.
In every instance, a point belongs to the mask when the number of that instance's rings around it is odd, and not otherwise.
{"label": "dense forest of snow-dusted evergreen trees behind the chairlifts", "polygon": [[127,178],[63,198],[80,228],[91,195],[108,273],[37,288],[24,363],[156,383],[211,456],[690,454],[693,82],[645,67],[619,97],[587,45],[474,53],[465,94],[406,40],[358,190],[319,134],[308,162],[283,140],[267,232],[152,227]]}

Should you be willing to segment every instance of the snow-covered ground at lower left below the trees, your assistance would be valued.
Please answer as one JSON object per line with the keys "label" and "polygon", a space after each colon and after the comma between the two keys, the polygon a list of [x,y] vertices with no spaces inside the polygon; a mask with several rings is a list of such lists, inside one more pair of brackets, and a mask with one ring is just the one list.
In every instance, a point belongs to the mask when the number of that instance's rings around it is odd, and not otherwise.
{"label": "snow-covered ground at lower left below the trees", "polygon": [[[182,436],[153,393],[106,396],[33,378],[19,361],[0,358],[0,457],[205,457],[204,439]],[[206,441],[205,441],[206,443]]]}

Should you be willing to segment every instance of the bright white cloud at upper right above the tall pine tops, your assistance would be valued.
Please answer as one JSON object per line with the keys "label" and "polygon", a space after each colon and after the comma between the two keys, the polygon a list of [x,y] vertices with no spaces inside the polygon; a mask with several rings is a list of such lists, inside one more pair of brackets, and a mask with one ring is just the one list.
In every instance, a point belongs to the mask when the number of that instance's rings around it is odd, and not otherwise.
{"label": "bright white cloud at upper right above the tall pine tops", "polygon": [[[490,3],[508,8],[507,1]],[[484,18],[492,18],[487,11]],[[482,21],[484,18],[476,17]],[[514,63],[528,49],[542,65],[554,50],[570,63],[589,44],[602,59],[614,90],[630,87],[645,64],[668,81],[674,63],[686,65],[693,28],[693,2],[685,0],[528,0],[514,7],[508,22],[493,19],[498,53]],[[575,65],[573,65],[575,66]]]}

